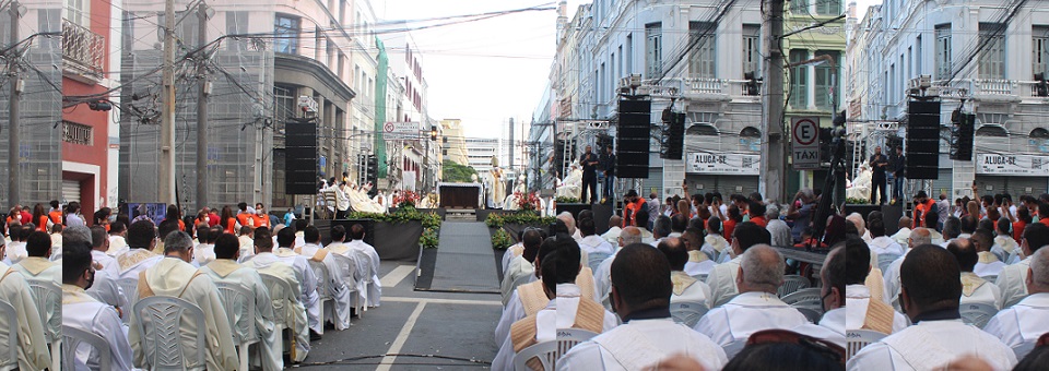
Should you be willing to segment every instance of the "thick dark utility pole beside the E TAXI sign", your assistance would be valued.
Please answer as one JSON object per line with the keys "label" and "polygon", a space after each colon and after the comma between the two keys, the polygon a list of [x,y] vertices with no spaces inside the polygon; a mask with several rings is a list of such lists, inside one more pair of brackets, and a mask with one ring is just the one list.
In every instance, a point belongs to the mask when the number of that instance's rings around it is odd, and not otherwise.
{"label": "thick dark utility pole beside the E TAXI sign", "polygon": [[762,0],[765,2],[765,117],[762,120],[762,173],[759,184],[766,199],[788,202],[785,196],[787,159],[783,145],[783,55],[780,52],[783,35],[783,0]]}

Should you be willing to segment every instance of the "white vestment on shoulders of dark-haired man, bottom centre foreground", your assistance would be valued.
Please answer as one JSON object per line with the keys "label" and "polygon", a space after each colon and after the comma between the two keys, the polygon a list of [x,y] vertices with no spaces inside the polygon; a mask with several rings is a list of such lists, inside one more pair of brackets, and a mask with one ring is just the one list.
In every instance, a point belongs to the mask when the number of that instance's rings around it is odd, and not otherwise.
{"label": "white vestment on shoulders of dark-haired man, bottom centre foreground", "polygon": [[639,370],[675,354],[684,354],[707,370],[728,363],[724,350],[709,337],[669,318],[633,320],[562,356],[557,370]]}

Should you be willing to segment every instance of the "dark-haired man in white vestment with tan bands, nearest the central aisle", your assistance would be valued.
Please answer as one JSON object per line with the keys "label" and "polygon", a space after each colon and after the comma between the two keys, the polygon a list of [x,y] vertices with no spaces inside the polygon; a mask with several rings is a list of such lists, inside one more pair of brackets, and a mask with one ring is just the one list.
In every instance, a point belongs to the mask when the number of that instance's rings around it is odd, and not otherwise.
{"label": "dark-haired man in white vestment with tan bands, nearest the central aisle", "polygon": [[517,352],[539,343],[555,340],[559,328],[579,328],[600,334],[618,324],[615,315],[601,304],[580,296],[581,290],[575,284],[581,267],[579,256],[579,246],[573,239],[558,240],[554,251],[543,256],[542,285],[547,303],[539,312],[510,326],[509,336],[503,340],[499,352],[492,361],[492,369],[512,369]]}

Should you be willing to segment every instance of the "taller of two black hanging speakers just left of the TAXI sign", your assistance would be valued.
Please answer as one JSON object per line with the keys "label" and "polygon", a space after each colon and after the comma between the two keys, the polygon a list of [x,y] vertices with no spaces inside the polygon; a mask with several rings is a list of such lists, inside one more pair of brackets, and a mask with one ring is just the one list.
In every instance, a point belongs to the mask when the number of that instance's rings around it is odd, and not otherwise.
{"label": "taller of two black hanging speakers just left of the TAXI sign", "polygon": [[620,99],[618,111],[615,175],[620,178],[648,178],[652,101]]}

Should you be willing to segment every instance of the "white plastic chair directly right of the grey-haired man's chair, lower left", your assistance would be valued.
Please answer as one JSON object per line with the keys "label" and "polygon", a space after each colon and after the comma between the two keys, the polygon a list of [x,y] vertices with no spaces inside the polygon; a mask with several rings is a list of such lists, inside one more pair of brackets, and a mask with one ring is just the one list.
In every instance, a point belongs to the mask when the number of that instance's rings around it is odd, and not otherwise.
{"label": "white plastic chair directly right of the grey-haired man's chair, lower left", "polygon": [[259,343],[258,328],[255,327],[255,295],[244,286],[229,283],[215,283],[219,298],[226,309],[229,326],[233,327],[233,340],[237,343],[240,357],[240,370],[248,370],[248,349]]}

